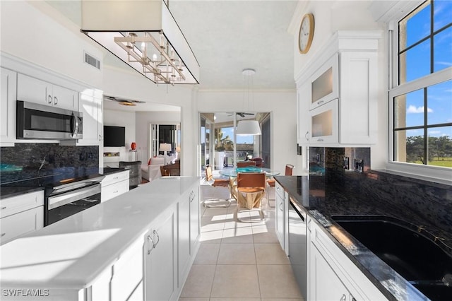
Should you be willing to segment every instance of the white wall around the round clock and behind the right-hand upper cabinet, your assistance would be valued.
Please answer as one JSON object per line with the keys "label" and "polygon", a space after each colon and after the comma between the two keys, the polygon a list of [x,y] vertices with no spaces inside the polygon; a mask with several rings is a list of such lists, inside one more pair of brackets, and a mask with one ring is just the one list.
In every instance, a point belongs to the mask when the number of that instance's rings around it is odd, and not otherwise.
{"label": "white wall around the round clock and behind the right-hand upper cabinet", "polygon": [[[324,45],[338,30],[384,30],[384,24],[376,23],[369,11],[374,1],[300,1],[299,10],[292,20],[295,28],[294,35],[294,75],[295,79],[302,74],[304,66],[323,51]],[[314,39],[307,54],[300,54],[298,50],[299,25],[305,13],[314,14]],[[297,21],[298,20],[298,21]],[[386,32],[379,40],[378,86],[379,105],[378,115],[378,141],[371,146],[371,168],[382,169],[387,162],[388,154],[388,96],[387,96],[387,45]]]}

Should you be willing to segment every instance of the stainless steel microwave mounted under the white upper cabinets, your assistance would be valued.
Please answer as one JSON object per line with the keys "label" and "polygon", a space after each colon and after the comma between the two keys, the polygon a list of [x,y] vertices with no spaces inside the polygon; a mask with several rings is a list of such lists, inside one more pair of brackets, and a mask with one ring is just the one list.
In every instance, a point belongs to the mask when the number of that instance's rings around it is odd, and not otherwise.
{"label": "stainless steel microwave mounted under the white upper cabinets", "polygon": [[81,112],[18,100],[16,117],[18,139],[83,138]]}

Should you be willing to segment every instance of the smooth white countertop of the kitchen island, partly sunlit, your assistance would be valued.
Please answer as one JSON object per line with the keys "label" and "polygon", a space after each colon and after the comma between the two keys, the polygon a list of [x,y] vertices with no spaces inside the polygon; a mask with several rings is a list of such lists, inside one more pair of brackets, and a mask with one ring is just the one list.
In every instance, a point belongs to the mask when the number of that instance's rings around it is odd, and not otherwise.
{"label": "smooth white countertop of the kitchen island, partly sunlit", "polygon": [[2,245],[1,288],[90,286],[196,182],[162,177]]}

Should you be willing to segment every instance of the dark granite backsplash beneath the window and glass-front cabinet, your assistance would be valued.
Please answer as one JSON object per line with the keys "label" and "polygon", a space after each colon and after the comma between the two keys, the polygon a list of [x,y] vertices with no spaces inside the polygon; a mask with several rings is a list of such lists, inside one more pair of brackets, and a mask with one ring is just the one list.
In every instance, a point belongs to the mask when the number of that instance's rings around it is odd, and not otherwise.
{"label": "dark granite backsplash beneath the window and glass-front cabinet", "polygon": [[[344,168],[345,157],[349,158],[349,169]],[[362,173],[355,171],[354,159],[362,160]],[[450,185],[371,170],[370,148],[309,148],[309,163],[313,167],[309,173],[323,177],[326,193],[334,190],[367,199],[388,211],[402,210],[412,223],[422,225],[423,220],[429,220],[443,230],[452,229]]]}

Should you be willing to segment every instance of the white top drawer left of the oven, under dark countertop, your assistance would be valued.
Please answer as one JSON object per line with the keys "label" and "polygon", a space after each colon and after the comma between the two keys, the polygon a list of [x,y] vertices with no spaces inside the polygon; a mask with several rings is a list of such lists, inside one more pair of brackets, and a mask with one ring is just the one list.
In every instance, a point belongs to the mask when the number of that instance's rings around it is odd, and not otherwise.
{"label": "white top drawer left of the oven, under dark countertop", "polygon": [[0,199],[0,218],[44,205],[44,191],[30,192],[7,199]]}

